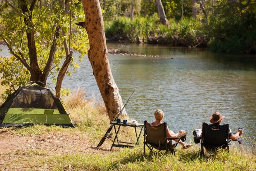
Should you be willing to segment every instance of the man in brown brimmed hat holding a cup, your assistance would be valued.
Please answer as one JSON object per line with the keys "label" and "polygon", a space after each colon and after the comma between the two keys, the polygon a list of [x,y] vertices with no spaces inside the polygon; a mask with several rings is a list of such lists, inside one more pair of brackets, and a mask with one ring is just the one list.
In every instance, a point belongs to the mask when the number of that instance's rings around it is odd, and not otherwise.
{"label": "man in brown brimmed hat holding a cup", "polygon": [[[225,118],[225,116],[222,116],[220,114],[220,112],[214,112],[212,114],[212,116],[210,117],[209,121],[212,124],[220,125],[222,123],[222,119],[224,119],[224,118]],[[242,133],[243,133],[243,130],[238,129],[238,131],[235,134],[233,134],[229,128],[228,137],[230,139],[232,139],[233,141],[236,141],[239,138],[239,135],[241,135]],[[202,133],[201,133],[200,137],[202,137]]]}

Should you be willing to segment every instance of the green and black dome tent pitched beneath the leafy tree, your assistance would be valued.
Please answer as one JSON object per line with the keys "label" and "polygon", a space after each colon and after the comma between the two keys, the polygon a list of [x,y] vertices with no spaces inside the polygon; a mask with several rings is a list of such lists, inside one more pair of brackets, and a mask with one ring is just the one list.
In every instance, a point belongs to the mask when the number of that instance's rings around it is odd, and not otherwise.
{"label": "green and black dome tent pitched beneath the leafy tree", "polygon": [[32,124],[74,127],[61,101],[37,84],[20,87],[0,107],[0,128]]}

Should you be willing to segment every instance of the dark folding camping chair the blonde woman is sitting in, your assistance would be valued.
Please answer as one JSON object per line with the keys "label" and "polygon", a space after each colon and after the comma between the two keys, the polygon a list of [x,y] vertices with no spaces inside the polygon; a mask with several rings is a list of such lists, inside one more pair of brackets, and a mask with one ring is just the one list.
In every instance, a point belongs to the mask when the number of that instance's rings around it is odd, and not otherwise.
{"label": "dark folding camping chair the blonde woman is sitting in", "polygon": [[[167,153],[169,150],[171,153],[175,153],[175,147],[178,145],[179,141],[185,141],[186,135],[181,138],[167,138],[166,134],[166,122],[152,126],[148,121],[144,121],[144,155],[145,155],[145,146],[147,146],[150,152],[153,152],[153,149],[159,150],[158,152],[165,150]],[[168,141],[178,139],[174,144],[169,145]]]}

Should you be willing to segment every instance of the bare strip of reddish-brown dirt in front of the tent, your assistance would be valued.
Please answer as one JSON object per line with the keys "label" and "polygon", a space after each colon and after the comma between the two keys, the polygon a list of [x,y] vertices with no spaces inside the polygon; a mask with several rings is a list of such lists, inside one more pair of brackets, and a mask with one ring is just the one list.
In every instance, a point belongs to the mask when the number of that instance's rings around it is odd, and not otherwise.
{"label": "bare strip of reddish-brown dirt in front of the tent", "polygon": [[[100,140],[99,140],[100,141]],[[42,149],[46,153],[101,153],[108,154],[109,143],[104,143],[101,147],[74,133],[50,132],[43,136],[14,136],[8,132],[0,132],[0,154],[10,154],[16,150],[27,151]]]}

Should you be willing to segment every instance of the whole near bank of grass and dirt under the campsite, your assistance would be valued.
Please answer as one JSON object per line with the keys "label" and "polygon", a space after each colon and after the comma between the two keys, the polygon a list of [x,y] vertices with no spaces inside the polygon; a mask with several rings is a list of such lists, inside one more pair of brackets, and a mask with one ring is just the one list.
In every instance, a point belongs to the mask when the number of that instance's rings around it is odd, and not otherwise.
{"label": "whole near bank of grass and dirt under the campsite", "polygon": [[[143,138],[133,149],[113,148],[113,137],[95,148],[108,129],[104,104],[95,97],[84,99],[86,91],[77,90],[63,98],[76,128],[35,125],[0,130],[2,141],[23,141],[10,150],[0,152],[0,170],[255,170],[255,148],[231,145],[230,153],[218,152],[200,157],[200,145],[180,150],[176,155],[143,155]],[[129,119],[129,118],[128,118]],[[114,131],[114,130],[112,130]],[[134,141],[132,129],[122,129],[120,139]],[[47,139],[48,138],[48,139]],[[24,139],[24,140],[23,140]],[[57,141],[58,139],[58,141]],[[80,141],[79,141],[80,140]],[[31,144],[32,141],[32,144]],[[57,144],[57,142],[60,144]],[[77,141],[79,141],[77,143]],[[192,141],[188,137],[187,141]],[[23,146],[24,144],[29,144]],[[52,142],[52,143],[51,143]],[[37,144],[36,144],[37,143]],[[48,144],[49,145],[48,145]],[[44,146],[45,145],[45,146]],[[58,150],[63,148],[63,150]]]}

